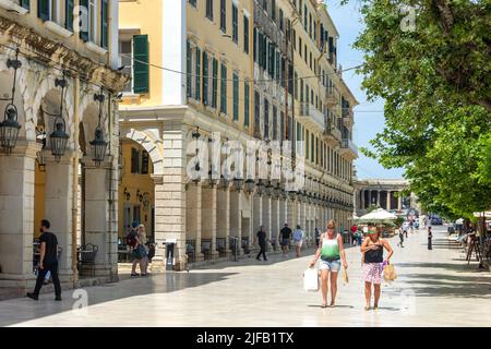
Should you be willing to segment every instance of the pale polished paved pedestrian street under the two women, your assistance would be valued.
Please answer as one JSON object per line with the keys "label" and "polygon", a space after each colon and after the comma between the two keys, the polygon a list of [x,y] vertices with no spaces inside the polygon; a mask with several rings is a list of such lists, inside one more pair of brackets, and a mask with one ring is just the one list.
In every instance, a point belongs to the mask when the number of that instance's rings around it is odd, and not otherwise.
{"label": "pale polished paved pedestrian street under the two women", "polygon": [[[38,302],[0,302],[2,326],[489,326],[491,274],[450,249],[446,227],[434,227],[434,248],[426,231],[409,234],[393,263],[398,278],[384,282],[380,309],[364,310],[358,248],[347,250],[349,284],[339,277],[336,308],[322,309],[320,292],[302,289],[302,272],[312,258],[271,256],[221,263],[190,273],[168,273],[91,287],[87,308],[74,300],[41,294]],[[80,290],[77,291],[80,293]],[[80,296],[77,296],[80,297]],[[75,310],[73,311],[72,308]]]}

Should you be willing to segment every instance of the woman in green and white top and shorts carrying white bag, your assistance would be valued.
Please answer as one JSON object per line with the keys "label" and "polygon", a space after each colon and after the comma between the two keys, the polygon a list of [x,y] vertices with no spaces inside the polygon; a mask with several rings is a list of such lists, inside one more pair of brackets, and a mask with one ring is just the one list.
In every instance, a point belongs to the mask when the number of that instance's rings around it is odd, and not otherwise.
{"label": "woman in green and white top and shorts carrying white bag", "polygon": [[322,291],[322,308],[327,306],[327,281],[331,277],[331,306],[335,306],[337,293],[337,275],[342,266],[345,269],[348,267],[346,262],[345,249],[343,246],[343,237],[336,233],[336,226],[334,219],[327,222],[327,231],[321,234],[320,248],[315,252],[310,267],[313,268],[315,262],[321,257],[321,291]]}

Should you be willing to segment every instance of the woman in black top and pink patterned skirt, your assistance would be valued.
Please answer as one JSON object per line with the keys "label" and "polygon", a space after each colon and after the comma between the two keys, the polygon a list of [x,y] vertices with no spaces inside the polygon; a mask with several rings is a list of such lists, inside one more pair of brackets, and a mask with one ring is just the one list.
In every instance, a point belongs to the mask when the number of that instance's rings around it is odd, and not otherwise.
{"label": "woman in black top and pink patterned skirt", "polygon": [[[364,279],[364,299],[367,305],[364,310],[370,310],[370,302],[372,298],[372,284],[375,293],[375,301],[373,309],[379,308],[380,300],[380,284],[382,282],[382,273],[384,265],[388,264],[394,251],[392,250],[386,239],[380,238],[380,230],[376,227],[369,227],[367,238],[361,245],[361,253],[363,254],[363,279]],[[384,261],[384,249],[387,250],[388,255]]]}

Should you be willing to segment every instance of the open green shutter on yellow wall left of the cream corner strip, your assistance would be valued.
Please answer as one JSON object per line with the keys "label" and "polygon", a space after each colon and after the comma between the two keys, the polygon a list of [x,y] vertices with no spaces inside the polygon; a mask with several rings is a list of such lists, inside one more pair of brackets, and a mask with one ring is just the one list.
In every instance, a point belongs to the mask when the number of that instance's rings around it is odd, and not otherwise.
{"label": "open green shutter on yellow wall left of the cream corner strip", "polygon": [[148,35],[133,36],[133,92],[148,93]]}

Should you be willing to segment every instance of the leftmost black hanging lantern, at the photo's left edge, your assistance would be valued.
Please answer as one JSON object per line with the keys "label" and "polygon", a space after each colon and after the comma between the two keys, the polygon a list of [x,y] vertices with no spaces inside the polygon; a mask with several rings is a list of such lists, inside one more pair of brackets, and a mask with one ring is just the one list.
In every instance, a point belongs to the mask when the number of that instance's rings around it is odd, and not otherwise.
{"label": "leftmost black hanging lantern, at the photo's left edge", "polygon": [[5,107],[5,111],[3,113],[3,121],[0,122],[0,143],[3,147],[5,154],[12,153],[12,149],[15,147],[15,143],[17,142],[19,131],[21,130],[21,124],[19,123],[19,113],[17,107],[13,104],[15,97],[15,82],[17,77],[17,69],[21,68],[22,63],[17,59],[19,58],[19,49],[15,51],[15,59],[7,60],[7,67],[13,68],[14,70],[14,79],[12,84],[12,97],[3,100],[10,100],[10,103]]}

